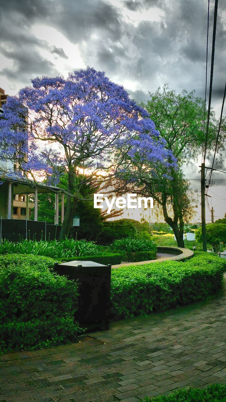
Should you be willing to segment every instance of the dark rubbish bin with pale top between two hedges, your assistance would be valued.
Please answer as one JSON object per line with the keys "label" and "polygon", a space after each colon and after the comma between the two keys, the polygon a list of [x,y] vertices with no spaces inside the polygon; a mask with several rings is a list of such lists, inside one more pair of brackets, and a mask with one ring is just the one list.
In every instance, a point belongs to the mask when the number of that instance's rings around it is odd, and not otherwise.
{"label": "dark rubbish bin with pale top between two hedges", "polygon": [[70,261],[55,263],[54,271],[78,281],[76,321],[88,330],[109,329],[111,265]]}

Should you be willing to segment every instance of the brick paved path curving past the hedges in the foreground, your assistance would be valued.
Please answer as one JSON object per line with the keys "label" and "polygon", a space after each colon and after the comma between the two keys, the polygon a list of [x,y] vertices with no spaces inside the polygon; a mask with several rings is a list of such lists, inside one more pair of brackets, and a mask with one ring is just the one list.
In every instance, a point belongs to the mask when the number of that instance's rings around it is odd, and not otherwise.
{"label": "brick paved path curving past the hedges in the foreground", "polygon": [[0,401],[7,402],[135,402],[226,382],[226,294],[0,360]]}

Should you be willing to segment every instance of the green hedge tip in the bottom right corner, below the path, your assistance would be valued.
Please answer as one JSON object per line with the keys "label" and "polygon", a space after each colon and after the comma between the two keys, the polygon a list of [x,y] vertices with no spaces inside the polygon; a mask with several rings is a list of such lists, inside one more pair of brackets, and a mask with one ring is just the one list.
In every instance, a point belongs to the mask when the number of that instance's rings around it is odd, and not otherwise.
{"label": "green hedge tip in the bottom right corner, below the path", "polygon": [[226,384],[212,384],[207,388],[182,388],[168,396],[144,399],[144,402],[225,402]]}

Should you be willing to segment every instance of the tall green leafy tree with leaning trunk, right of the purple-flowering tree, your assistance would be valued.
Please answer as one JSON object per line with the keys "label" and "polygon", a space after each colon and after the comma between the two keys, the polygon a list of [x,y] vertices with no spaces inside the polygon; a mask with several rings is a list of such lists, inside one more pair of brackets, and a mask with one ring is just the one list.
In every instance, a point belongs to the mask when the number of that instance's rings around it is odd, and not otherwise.
{"label": "tall green leafy tree with leaning trunk, right of the purple-flowering tree", "polygon": [[[154,198],[162,210],[165,222],[173,229],[178,246],[184,247],[184,225],[193,216],[196,197],[181,169],[184,163],[195,160],[202,152],[205,102],[202,98],[195,97],[194,90],[190,93],[183,90],[181,94],[177,94],[175,90],[170,90],[167,84],[162,90],[158,87],[156,92],[149,94],[150,100],[142,103],[142,107],[148,111],[156,129],[165,139],[166,149],[171,150],[177,158],[179,168],[169,168],[173,178],[169,180],[166,178],[168,172],[164,166],[158,167],[157,171],[149,163],[148,152],[146,157],[145,154],[141,157],[141,152],[137,152],[136,156],[131,158],[129,146],[125,144],[121,155],[124,158],[123,168],[126,173],[121,174],[120,179],[128,183],[127,189],[131,190],[134,185],[136,192],[140,189],[142,195]],[[225,118],[221,127],[219,159],[226,144]],[[215,147],[217,131],[218,122],[211,111],[207,144],[209,151]]]}

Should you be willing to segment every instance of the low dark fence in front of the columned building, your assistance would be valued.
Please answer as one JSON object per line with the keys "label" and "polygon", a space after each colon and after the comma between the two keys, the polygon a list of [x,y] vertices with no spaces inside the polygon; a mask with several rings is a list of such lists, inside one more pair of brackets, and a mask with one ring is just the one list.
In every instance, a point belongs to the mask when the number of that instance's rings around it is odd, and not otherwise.
{"label": "low dark fence in front of the columned building", "polygon": [[46,222],[2,219],[0,220],[0,240],[8,239],[11,242],[20,240],[54,240],[58,239],[60,226],[49,225]]}

